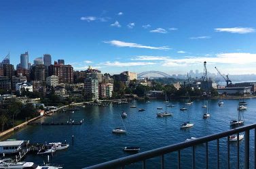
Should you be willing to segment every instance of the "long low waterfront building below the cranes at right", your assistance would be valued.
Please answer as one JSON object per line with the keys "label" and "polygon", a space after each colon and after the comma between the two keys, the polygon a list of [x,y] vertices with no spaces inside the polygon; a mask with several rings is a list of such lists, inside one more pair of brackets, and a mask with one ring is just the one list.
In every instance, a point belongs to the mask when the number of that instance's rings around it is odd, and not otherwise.
{"label": "long low waterfront building below the cranes at right", "polygon": [[244,94],[244,93],[251,93],[251,87],[225,87],[224,89],[217,89],[219,94],[227,94],[227,95],[234,95],[234,94]]}

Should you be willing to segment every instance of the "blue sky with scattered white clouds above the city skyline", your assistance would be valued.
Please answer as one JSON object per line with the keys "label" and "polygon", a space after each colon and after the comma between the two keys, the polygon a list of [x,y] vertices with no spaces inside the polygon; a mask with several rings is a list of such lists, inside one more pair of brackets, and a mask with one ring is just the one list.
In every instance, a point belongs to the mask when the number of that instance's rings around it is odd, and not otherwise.
{"label": "blue sky with scattered white clouds above the city skyline", "polygon": [[2,0],[0,58],[50,53],[110,74],[256,73],[256,1]]}

